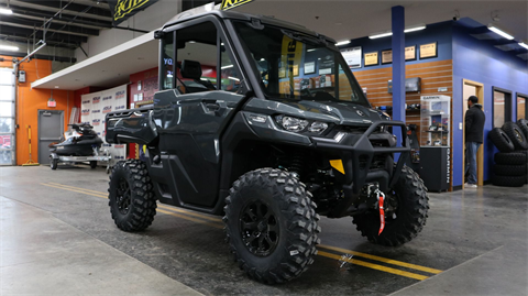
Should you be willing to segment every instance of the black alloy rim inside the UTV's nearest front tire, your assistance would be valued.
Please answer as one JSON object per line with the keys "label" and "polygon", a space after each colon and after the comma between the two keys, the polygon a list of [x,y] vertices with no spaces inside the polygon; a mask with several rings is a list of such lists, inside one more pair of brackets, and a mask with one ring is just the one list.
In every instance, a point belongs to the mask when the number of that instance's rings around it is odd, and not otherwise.
{"label": "black alloy rim inside the UTV's nearest front tire", "polygon": [[278,244],[278,219],[268,205],[253,200],[241,212],[240,232],[252,254],[268,256]]}

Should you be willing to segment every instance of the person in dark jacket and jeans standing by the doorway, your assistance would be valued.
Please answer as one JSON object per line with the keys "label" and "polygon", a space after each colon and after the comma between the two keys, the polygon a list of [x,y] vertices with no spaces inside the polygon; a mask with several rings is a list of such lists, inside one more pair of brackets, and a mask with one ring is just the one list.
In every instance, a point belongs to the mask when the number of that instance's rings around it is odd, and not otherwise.
{"label": "person in dark jacket and jeans standing by the doorway", "polygon": [[469,165],[465,172],[469,173],[466,188],[476,188],[476,152],[483,142],[484,122],[486,116],[482,111],[479,98],[468,98],[468,111],[465,112],[465,157]]}

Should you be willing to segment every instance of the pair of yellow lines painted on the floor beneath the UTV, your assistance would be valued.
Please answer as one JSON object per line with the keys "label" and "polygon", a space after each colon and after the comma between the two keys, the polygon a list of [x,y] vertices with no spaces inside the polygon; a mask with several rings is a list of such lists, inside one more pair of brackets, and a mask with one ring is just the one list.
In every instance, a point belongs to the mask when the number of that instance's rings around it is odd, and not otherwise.
{"label": "pair of yellow lines painted on the floor beneath the UTV", "polygon": [[[48,184],[41,183],[41,185],[57,188],[57,189],[64,189],[64,190],[91,195],[91,196],[96,196],[96,197],[108,198],[107,194],[102,193],[102,191],[96,191],[96,190],[91,190],[91,189],[85,189],[85,188],[63,185],[63,184],[58,184],[58,183],[48,183]],[[168,209],[170,211],[163,210],[163,209],[160,209],[160,208],[165,208],[165,209]],[[196,212],[191,212],[191,211],[187,211],[187,210],[175,209],[174,207],[167,207],[167,206],[164,206],[164,205],[158,205],[157,211],[166,213],[166,215],[170,215],[170,216],[174,216],[174,217],[178,217],[178,218],[182,218],[182,219],[186,219],[186,220],[189,220],[189,221],[193,221],[193,222],[204,223],[204,224],[211,226],[211,227],[215,227],[215,228],[218,228],[218,229],[223,229],[222,224],[218,224],[218,223],[213,223],[213,222],[209,222],[209,221],[204,221],[204,220],[200,220],[200,219],[188,217],[186,215],[191,215],[191,216],[195,216],[195,217],[198,217],[198,218],[201,218],[201,219],[212,220],[215,222],[217,222],[217,221],[220,222],[221,221],[220,218],[212,218],[212,217],[208,217],[208,216],[205,216],[205,215],[200,215],[200,213],[196,213]],[[179,215],[179,213],[176,213],[174,211],[182,212],[184,215]],[[420,265],[416,265],[416,264],[405,263],[405,262],[402,262],[402,261],[396,261],[396,260],[385,259],[385,257],[381,257],[381,256],[376,256],[376,255],[355,252],[355,251],[351,251],[351,250],[346,250],[346,249],[341,249],[341,248],[338,248],[338,246],[331,246],[331,245],[324,245],[324,244],[319,244],[318,246],[323,248],[323,249],[328,249],[328,250],[333,250],[333,251],[346,253],[346,254],[362,256],[362,257],[366,257],[366,259],[371,259],[371,260],[376,260],[376,261],[387,263],[387,264],[393,264],[393,265],[398,265],[398,266],[403,266],[403,267],[414,268],[414,270],[417,270],[417,271],[424,271],[424,272],[428,272],[428,273],[432,273],[432,274],[439,274],[439,273],[442,272],[440,270],[435,270],[435,268],[425,267],[425,266],[420,266]],[[396,268],[392,268],[392,267],[386,267],[386,266],[383,266],[383,265],[373,264],[373,263],[364,262],[364,261],[356,260],[356,259],[342,259],[340,255],[323,252],[323,251],[318,251],[318,255],[326,256],[326,257],[329,257],[329,259],[334,259],[334,260],[338,260],[338,261],[339,260],[345,260],[346,262],[350,262],[350,263],[355,264],[355,265],[361,265],[361,266],[364,266],[364,267],[369,267],[369,268],[373,268],[373,270],[377,270],[377,271],[382,271],[382,272],[386,272],[386,273],[397,274],[397,275],[400,275],[400,276],[410,277],[410,278],[415,278],[415,279],[419,279],[419,281],[424,281],[426,278],[429,278],[428,276],[425,276],[425,275],[415,274],[415,273],[410,273],[410,272],[406,272],[406,271],[400,271],[400,270],[396,270]]]}

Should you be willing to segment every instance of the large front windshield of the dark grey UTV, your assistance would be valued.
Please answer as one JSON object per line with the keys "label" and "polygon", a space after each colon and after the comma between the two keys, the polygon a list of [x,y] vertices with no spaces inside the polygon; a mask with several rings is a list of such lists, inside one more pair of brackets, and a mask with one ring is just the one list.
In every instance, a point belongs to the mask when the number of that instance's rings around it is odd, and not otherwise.
{"label": "large front windshield of the dark grey UTV", "polygon": [[324,41],[272,25],[234,22],[268,98],[370,106],[341,53]]}

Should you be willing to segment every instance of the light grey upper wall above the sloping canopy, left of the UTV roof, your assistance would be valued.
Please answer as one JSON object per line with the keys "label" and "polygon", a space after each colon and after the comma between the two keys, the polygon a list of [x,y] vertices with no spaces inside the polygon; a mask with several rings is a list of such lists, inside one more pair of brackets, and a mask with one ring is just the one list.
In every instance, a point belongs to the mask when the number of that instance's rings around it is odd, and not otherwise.
{"label": "light grey upper wall above the sloping canopy, left of the UTV roof", "polygon": [[[182,11],[182,1],[183,0],[160,0],[155,4],[120,23],[119,26],[143,31],[156,30]],[[88,54],[88,57],[92,57],[142,34],[143,33],[120,29],[106,29],[99,31],[99,36],[88,37],[88,42],[82,43],[81,46]],[[75,51],[75,56],[77,57],[77,63],[88,58],[80,48]]]}

